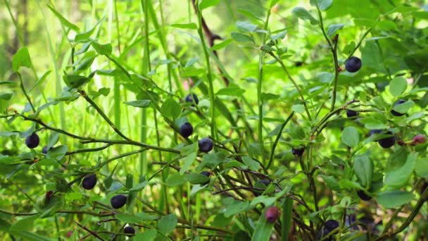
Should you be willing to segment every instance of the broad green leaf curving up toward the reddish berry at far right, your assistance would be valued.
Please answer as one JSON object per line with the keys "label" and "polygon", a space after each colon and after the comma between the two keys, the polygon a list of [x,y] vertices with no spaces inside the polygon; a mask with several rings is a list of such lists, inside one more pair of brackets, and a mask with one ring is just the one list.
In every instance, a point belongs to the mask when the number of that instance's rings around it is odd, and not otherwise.
{"label": "broad green leaf curving up toward the reddish berry at far right", "polygon": [[385,174],[384,185],[394,188],[400,188],[407,184],[410,175],[412,175],[413,170],[415,170],[416,159],[417,153],[408,154],[407,160],[405,161],[403,166],[388,171]]}

